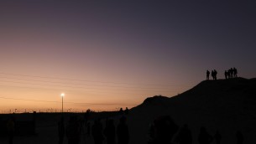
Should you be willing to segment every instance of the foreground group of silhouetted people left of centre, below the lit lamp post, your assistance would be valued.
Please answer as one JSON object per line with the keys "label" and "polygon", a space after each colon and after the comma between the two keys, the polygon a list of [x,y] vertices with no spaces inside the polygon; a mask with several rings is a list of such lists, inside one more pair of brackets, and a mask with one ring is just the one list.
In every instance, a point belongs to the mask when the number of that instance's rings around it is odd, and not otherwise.
{"label": "foreground group of silhouetted people left of centre, below the lit lamp post", "polygon": [[[103,141],[106,141],[107,144],[128,144],[129,132],[126,121],[126,116],[121,116],[118,126],[115,126],[113,119],[107,119],[105,127],[103,127],[100,119],[95,120],[92,126],[90,122],[88,122],[86,124],[86,135],[92,136],[95,144],[102,144]],[[59,144],[63,143],[64,136],[66,136],[68,144],[79,144],[81,135],[85,133],[83,122],[80,121],[77,116],[71,116],[66,127],[63,119],[61,119],[58,127]]]}

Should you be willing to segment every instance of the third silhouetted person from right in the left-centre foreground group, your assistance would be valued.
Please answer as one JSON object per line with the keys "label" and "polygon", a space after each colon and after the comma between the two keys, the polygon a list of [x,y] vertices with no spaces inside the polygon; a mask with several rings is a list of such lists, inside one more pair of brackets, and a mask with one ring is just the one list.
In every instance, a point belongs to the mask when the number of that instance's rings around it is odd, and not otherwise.
{"label": "third silhouetted person from right in the left-centre foreground group", "polygon": [[104,140],[104,136],[102,133],[102,123],[100,120],[94,121],[93,126],[91,127],[91,134],[93,136],[93,140],[95,144],[102,144]]}

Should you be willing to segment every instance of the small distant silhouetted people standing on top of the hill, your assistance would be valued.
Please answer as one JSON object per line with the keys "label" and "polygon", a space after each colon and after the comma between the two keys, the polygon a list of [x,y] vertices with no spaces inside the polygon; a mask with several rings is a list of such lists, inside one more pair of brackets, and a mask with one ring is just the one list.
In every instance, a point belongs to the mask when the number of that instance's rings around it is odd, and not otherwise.
{"label": "small distant silhouetted people standing on top of the hill", "polygon": [[[217,70],[213,69],[211,72],[212,80],[217,80]],[[237,78],[238,77],[238,69],[231,68],[228,70],[225,70],[224,72],[225,79],[231,79],[231,78]],[[210,80],[210,71],[206,70],[206,80]]]}

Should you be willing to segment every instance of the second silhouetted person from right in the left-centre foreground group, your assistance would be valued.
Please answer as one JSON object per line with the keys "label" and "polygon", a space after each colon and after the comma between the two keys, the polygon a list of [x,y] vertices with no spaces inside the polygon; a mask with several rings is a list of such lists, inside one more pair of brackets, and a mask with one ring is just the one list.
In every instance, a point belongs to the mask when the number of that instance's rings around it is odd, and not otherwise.
{"label": "second silhouetted person from right in the left-centre foreground group", "polygon": [[116,143],[116,127],[114,126],[114,121],[108,120],[107,126],[104,129],[104,135],[107,137],[107,144]]}

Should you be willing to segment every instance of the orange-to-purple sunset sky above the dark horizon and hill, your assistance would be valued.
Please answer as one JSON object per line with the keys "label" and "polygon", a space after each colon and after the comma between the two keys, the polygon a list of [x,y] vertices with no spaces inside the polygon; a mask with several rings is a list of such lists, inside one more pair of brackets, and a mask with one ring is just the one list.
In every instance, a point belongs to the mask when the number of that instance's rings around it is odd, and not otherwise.
{"label": "orange-to-purple sunset sky above the dark horizon and hill", "polygon": [[[236,67],[256,77],[255,1],[1,1],[0,110],[113,111]],[[0,111],[0,112],[1,112]]]}

